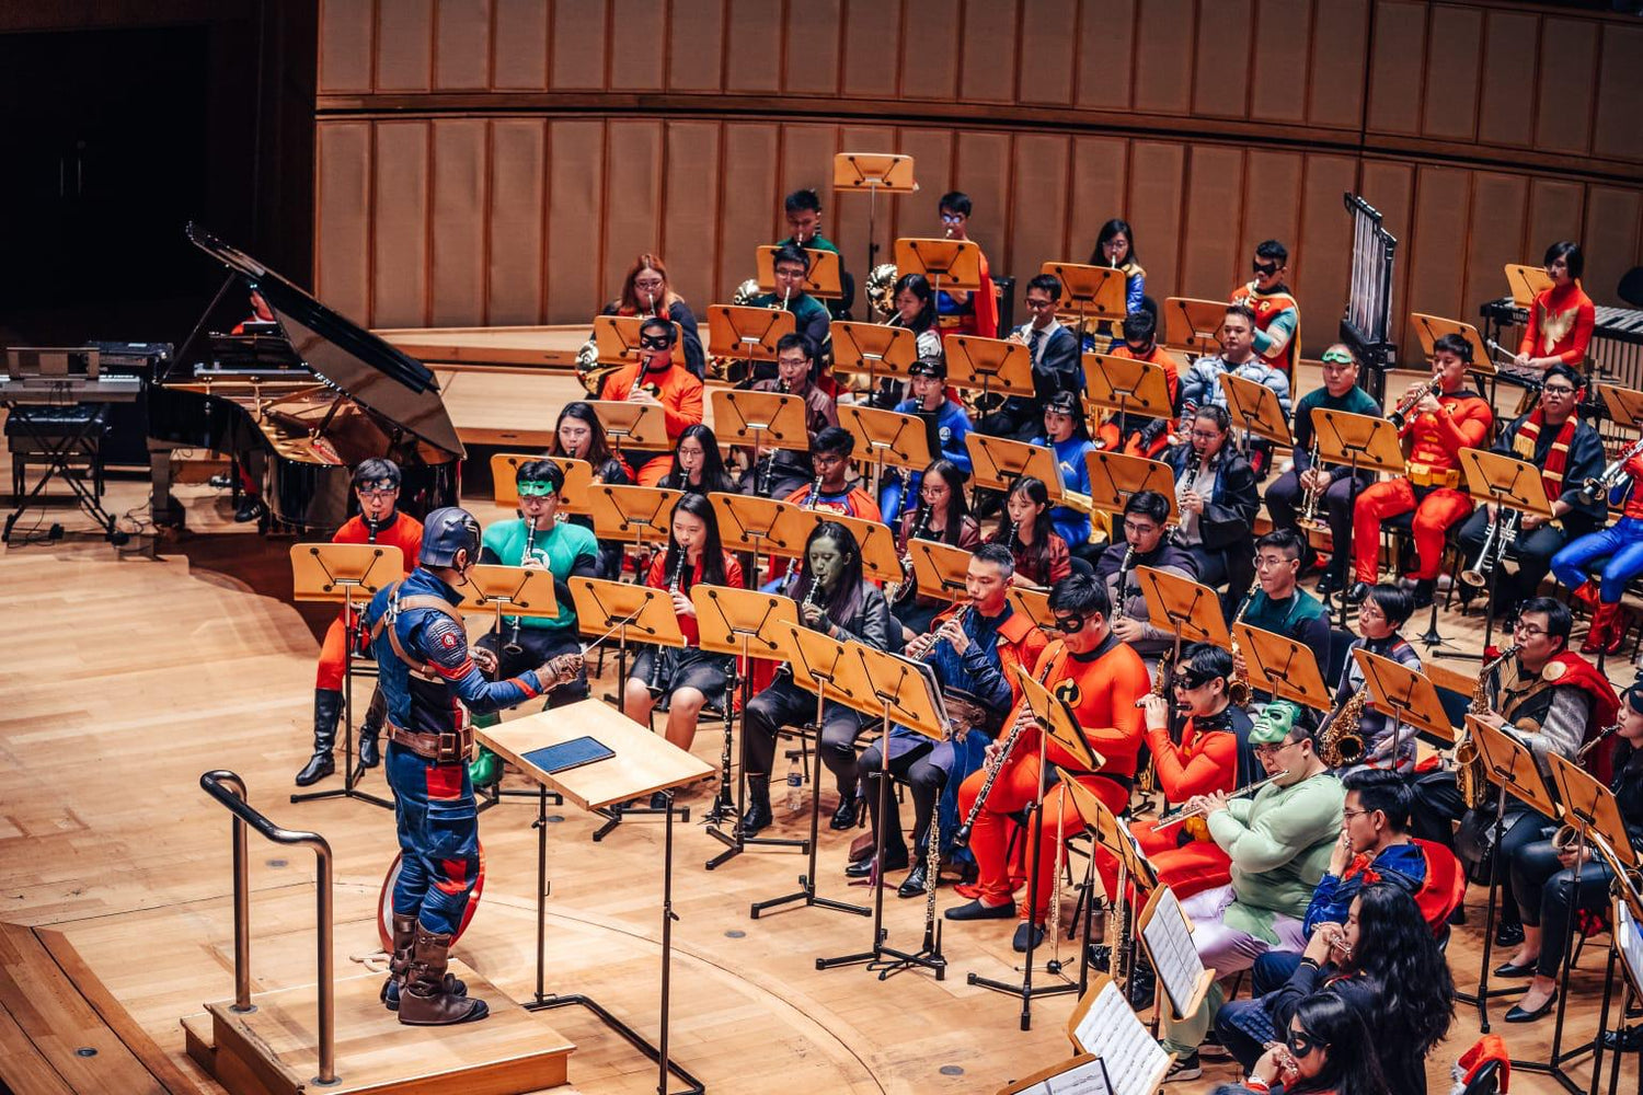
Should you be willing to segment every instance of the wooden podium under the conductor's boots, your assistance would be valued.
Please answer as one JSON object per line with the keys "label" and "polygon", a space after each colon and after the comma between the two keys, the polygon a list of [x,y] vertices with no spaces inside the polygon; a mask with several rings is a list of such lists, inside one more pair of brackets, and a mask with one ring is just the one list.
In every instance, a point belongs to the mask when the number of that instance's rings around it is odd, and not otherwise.
{"label": "wooden podium under the conductor's boots", "polygon": [[184,1016],[194,1057],[230,1095],[352,1092],[370,1095],[524,1095],[552,1088],[572,1095],[565,1069],[575,1049],[545,1016],[526,1011],[462,962],[450,972],[468,995],[491,1006],[478,1023],[404,1026],[378,1000],[381,974],[335,983],[337,1084],[320,1087],[314,985],[253,993],[253,1011],[232,1000]]}

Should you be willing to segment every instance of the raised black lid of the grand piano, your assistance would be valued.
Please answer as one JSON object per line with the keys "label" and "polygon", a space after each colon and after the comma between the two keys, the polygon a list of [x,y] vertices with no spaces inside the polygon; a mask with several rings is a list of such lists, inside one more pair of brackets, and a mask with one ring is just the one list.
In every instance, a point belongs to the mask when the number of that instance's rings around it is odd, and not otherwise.
{"label": "raised black lid of the grand piano", "polygon": [[191,223],[187,235],[263,294],[291,348],[320,379],[429,445],[457,458],[467,455],[427,366],[199,225]]}

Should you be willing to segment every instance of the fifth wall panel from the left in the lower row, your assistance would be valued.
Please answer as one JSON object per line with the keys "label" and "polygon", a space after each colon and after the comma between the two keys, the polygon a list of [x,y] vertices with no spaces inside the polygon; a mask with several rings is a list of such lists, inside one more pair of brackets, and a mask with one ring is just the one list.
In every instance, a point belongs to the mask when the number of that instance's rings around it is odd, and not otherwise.
{"label": "fifth wall panel from the left in the lower row", "polygon": [[611,296],[600,261],[605,192],[605,123],[550,121],[544,254],[549,323],[587,318]]}

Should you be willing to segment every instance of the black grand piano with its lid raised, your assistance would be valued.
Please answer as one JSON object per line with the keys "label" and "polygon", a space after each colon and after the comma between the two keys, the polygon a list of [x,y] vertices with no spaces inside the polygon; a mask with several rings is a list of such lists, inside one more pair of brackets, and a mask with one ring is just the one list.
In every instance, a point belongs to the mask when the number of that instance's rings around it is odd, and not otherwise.
{"label": "black grand piano with its lid raised", "polygon": [[[245,251],[196,225],[187,236],[228,277],[148,387],[154,519],[176,515],[166,450],[181,447],[233,456],[271,527],[327,534],[342,525],[353,502],[350,468],[368,456],[399,465],[406,512],[455,506],[465,450],[434,373]],[[225,300],[242,304],[253,291],[271,322],[210,330]]]}

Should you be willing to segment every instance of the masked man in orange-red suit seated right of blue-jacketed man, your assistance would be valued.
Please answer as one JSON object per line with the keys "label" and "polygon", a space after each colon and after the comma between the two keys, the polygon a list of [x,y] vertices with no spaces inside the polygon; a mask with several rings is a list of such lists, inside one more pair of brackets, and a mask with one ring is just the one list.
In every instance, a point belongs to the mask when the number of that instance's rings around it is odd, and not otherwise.
{"label": "masked man in orange-red suit seated right of blue-jacketed man", "polygon": [[[1111,609],[1106,588],[1094,578],[1075,575],[1058,581],[1050,589],[1050,611],[1061,637],[1045,647],[1033,667],[1035,678],[1071,706],[1078,726],[1104,763],[1094,772],[1084,770],[1058,744],[1045,742],[1032,711],[1025,703],[1017,704],[1014,717],[1006,722],[1006,727],[1024,722],[1014,747],[1004,754],[1001,740],[986,749],[986,767],[997,768],[986,801],[976,809],[989,772],[973,773],[958,793],[960,816],[974,813],[969,849],[976,857],[981,893],[968,905],[946,909],[948,919],[1010,919],[1017,914],[1009,864],[1010,814],[1038,798],[1043,763],[1066,770],[1112,813],[1129,808],[1140,752],[1140,709],[1135,701],[1147,694],[1148,680],[1140,655],[1112,634],[1107,622]],[[1066,837],[1084,827],[1071,796],[1060,785],[1045,791],[1042,822],[1033,890],[1037,903],[1020,909],[1022,923],[1014,939],[1020,952],[1043,939],[1056,852]]]}

